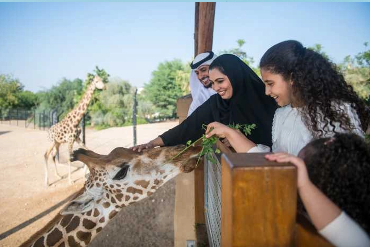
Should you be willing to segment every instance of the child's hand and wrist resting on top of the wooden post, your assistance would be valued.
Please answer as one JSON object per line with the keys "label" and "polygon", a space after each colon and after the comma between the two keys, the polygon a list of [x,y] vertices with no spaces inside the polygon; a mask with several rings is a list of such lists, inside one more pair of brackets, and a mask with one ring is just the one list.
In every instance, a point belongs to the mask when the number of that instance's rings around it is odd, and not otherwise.
{"label": "child's hand and wrist resting on top of the wooden post", "polygon": [[279,163],[290,162],[295,165],[297,167],[298,188],[306,186],[306,184],[310,183],[310,178],[308,177],[305,161],[303,161],[301,158],[287,153],[266,154],[265,158]]}

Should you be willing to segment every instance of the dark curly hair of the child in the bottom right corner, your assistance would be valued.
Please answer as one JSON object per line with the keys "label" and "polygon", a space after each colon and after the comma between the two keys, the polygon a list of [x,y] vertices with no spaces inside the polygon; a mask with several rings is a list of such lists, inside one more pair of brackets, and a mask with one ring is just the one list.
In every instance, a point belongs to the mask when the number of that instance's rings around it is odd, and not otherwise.
{"label": "dark curly hair of the child in the bottom right corner", "polygon": [[370,233],[370,147],[364,139],[335,134],[311,141],[299,156],[312,183]]}

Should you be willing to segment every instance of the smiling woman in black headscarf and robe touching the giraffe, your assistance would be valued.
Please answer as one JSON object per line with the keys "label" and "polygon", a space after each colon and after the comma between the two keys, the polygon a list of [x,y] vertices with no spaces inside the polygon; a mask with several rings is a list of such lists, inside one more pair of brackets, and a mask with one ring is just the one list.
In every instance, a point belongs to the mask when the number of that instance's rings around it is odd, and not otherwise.
{"label": "smiling woman in black headscarf and robe touching the giraffe", "polygon": [[202,136],[203,124],[252,124],[257,128],[250,140],[271,146],[271,126],[276,110],[274,100],[264,94],[259,77],[237,56],[223,54],[209,66],[212,88],[217,92],[199,106],[180,125],[146,144],[132,147],[141,151],[155,146],[173,146],[195,141]]}

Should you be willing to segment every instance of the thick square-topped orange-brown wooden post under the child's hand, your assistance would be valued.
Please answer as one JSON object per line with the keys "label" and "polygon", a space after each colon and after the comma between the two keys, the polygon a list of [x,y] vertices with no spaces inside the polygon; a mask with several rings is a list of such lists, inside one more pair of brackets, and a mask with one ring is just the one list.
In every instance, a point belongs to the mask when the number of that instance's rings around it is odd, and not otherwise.
{"label": "thick square-topped orange-brown wooden post under the child's hand", "polygon": [[264,155],[222,155],[222,247],[295,244],[296,167]]}

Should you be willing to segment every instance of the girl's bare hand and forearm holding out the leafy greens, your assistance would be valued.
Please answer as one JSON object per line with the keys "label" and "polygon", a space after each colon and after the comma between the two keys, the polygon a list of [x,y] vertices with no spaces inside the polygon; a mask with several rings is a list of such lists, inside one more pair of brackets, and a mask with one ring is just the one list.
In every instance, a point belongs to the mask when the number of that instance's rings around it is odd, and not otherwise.
{"label": "girl's bare hand and forearm holding out the leafy greens", "polygon": [[226,126],[225,124],[213,122],[208,124],[206,137],[216,135],[221,138],[227,138],[231,146],[238,153],[246,153],[256,144],[244,136],[240,131]]}

